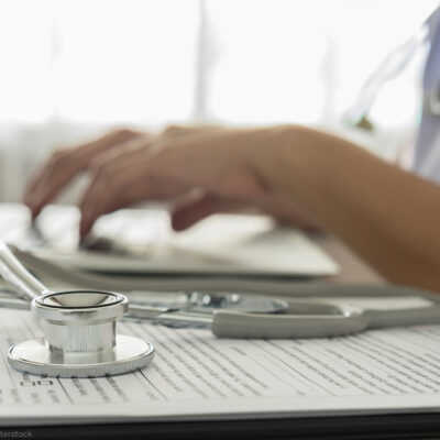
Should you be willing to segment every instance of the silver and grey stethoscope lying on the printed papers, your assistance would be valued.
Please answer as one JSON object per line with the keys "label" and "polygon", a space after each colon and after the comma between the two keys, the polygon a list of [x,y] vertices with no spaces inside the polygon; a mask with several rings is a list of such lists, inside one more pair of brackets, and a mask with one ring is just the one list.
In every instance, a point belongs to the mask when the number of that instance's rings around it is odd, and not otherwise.
{"label": "silver and grey stethoscope lying on the printed papers", "polygon": [[[172,327],[189,324],[208,328],[222,338],[329,338],[367,329],[440,323],[440,306],[435,296],[402,287],[388,287],[385,292],[427,297],[431,299],[430,305],[376,310],[334,304],[322,298],[289,299],[288,302],[272,299],[272,315],[234,310],[191,311],[179,307],[129,307],[127,297],[116,293],[51,292],[24,268],[4,243],[0,243],[0,274],[28,301],[15,298],[15,301],[8,302],[7,299],[1,305],[23,308],[31,300],[31,311],[42,320],[44,329],[43,339],[21,342],[9,349],[10,365],[21,372],[54,377],[116,375],[147,365],[154,356],[153,345],[141,338],[117,333],[117,320],[124,315]],[[321,287],[321,290],[326,296],[324,288]],[[332,294],[338,296],[338,290],[344,289],[336,286]]]}

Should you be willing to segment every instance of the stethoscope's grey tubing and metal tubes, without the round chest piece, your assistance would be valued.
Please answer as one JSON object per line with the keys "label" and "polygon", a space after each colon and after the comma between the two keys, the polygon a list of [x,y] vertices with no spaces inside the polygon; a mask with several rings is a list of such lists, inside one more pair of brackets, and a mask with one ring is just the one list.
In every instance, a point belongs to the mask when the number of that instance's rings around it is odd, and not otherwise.
{"label": "stethoscope's grey tubing and metal tubes, without the round chest piece", "polygon": [[[48,289],[33,277],[13,255],[11,250],[0,243],[0,274],[16,289],[22,299],[0,295],[0,307],[28,308],[29,299],[40,294],[46,295]],[[374,290],[372,286],[363,286],[364,294]],[[307,290],[307,289],[306,289]],[[314,287],[309,288],[309,293]],[[345,290],[345,292],[343,292]],[[351,292],[343,286],[323,285],[315,287],[318,296],[324,292],[341,297]],[[356,290],[356,289],[354,289]],[[358,286],[358,293],[362,290]],[[393,287],[383,289],[393,292]],[[424,290],[395,288],[394,294],[426,296]],[[430,296],[432,298],[432,296]],[[28,306],[26,306],[28,302]],[[128,317],[136,320],[150,320],[176,327],[178,324],[210,328],[212,333],[221,338],[328,338],[353,334],[366,329],[435,324],[440,323],[440,306],[417,307],[397,310],[373,310],[351,307],[339,300],[332,304],[330,298],[314,300],[312,298],[289,299],[287,315],[249,314],[231,310],[216,310],[210,314],[194,312],[179,308],[131,306]]]}

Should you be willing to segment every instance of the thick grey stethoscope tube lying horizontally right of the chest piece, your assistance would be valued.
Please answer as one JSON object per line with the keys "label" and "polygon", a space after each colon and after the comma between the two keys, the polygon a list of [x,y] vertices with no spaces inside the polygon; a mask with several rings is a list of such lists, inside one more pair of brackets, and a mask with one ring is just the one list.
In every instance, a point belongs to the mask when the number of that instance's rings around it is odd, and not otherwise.
{"label": "thick grey stethoscope tube lying horizontally right of the chest piece", "polygon": [[[290,300],[290,306],[317,306],[317,302]],[[319,302],[318,306],[322,306]],[[0,294],[0,307],[29,309],[30,302]],[[406,308],[397,310],[362,310],[351,308],[345,316],[257,315],[218,310],[212,316],[167,308],[131,306],[127,318],[155,321],[166,326],[196,326],[211,328],[220,338],[329,338],[354,334],[367,329],[440,323],[440,306]],[[301,310],[304,314],[305,310]],[[348,309],[345,308],[345,312]]]}

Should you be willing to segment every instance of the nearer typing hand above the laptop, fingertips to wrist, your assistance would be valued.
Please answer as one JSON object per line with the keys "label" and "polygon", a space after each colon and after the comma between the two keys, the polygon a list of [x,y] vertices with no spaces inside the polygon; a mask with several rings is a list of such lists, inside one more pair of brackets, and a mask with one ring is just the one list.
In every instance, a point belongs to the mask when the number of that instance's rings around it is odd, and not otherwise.
{"label": "nearer typing hand above the laptop, fingertips to wrist", "polygon": [[[176,131],[176,130],[175,130]],[[190,130],[186,136],[140,138],[101,156],[80,204],[80,234],[107,212],[141,200],[172,200],[183,230],[213,212],[256,208],[298,227],[316,228],[304,207],[263,182],[250,155],[270,142],[264,130]],[[270,145],[268,145],[270,146]]]}

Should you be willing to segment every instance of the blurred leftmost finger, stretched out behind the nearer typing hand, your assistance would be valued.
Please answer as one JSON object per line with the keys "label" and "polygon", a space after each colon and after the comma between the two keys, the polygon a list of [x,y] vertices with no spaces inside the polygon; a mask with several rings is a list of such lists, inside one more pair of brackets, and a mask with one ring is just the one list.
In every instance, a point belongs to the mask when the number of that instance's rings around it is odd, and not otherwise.
{"label": "blurred leftmost finger, stretched out behind the nearer typing hand", "polygon": [[118,130],[91,143],[55,152],[31,179],[25,190],[23,201],[30,207],[33,217],[77,174],[86,169],[95,156],[140,135],[140,132]]}

